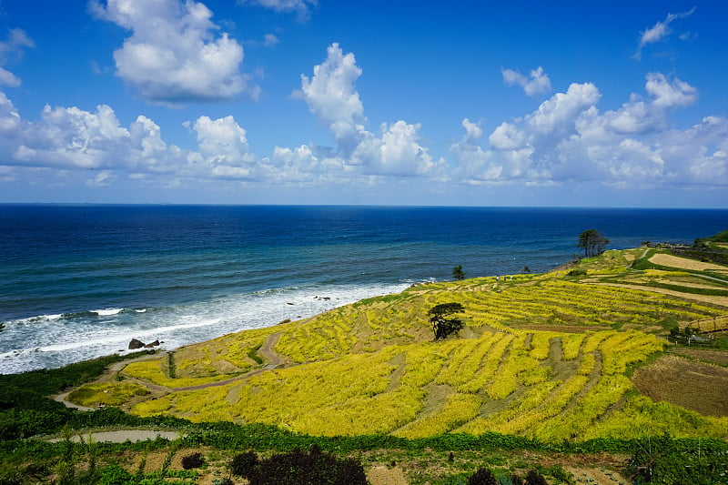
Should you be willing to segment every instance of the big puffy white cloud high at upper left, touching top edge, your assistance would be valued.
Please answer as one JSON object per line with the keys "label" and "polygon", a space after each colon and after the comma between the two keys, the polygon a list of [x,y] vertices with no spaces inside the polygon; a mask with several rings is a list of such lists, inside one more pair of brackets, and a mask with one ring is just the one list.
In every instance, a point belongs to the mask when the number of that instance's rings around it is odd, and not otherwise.
{"label": "big puffy white cloud high at upper left, touching top edge", "polygon": [[116,76],[152,103],[258,97],[240,73],[243,47],[217,35],[206,5],[194,0],[107,0],[92,11],[132,32],[114,52]]}

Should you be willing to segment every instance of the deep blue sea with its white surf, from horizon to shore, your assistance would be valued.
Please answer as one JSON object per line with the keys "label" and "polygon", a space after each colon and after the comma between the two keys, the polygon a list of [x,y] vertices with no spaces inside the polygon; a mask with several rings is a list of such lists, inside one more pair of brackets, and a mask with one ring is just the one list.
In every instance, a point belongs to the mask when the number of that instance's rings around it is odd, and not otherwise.
{"label": "deep blue sea with its white surf, from horizon to shore", "polygon": [[592,227],[609,248],[692,242],[728,210],[0,205],[0,373],[266,327],[458,264],[546,271]]}

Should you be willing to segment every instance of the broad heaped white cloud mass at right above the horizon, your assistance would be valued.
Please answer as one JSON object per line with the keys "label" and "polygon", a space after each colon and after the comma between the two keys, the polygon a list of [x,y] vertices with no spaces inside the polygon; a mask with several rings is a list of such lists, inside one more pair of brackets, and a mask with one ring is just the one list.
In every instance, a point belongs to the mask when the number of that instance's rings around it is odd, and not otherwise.
{"label": "broad heaped white cloud mass at right above the horizon", "polygon": [[551,184],[599,181],[612,187],[728,183],[728,120],[709,116],[691,128],[669,125],[672,109],[688,106],[697,90],[662,73],[646,76],[646,97],[633,94],[616,110],[597,108],[601,93],[572,84],[529,115],[501,123],[480,147],[480,126],[467,118],[450,149],[465,181]]}

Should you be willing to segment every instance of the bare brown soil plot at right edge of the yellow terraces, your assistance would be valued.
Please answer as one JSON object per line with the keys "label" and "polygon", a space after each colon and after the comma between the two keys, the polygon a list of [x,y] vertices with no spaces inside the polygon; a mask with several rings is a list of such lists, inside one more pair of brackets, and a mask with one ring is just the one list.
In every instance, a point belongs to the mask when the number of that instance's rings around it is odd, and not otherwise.
{"label": "bare brown soil plot at right edge of the yellow terraces", "polygon": [[728,416],[728,369],[666,355],[637,370],[632,381],[652,400],[705,416]]}

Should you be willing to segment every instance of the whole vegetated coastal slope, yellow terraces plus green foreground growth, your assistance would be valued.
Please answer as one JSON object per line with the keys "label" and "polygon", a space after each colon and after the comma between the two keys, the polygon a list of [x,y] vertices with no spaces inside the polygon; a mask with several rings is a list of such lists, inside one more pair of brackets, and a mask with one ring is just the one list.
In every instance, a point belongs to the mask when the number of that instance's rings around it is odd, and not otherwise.
{"label": "whole vegetated coastal slope, yellow terraces plus green foreground growth", "polygon": [[[703,359],[684,328],[723,321],[728,284],[706,278],[723,267],[702,264],[652,248],[611,250],[570,272],[417,285],[151,355],[105,379],[98,378],[121,358],[0,376],[0,484],[222,484],[236,466],[314,446],[336,462],[358,460],[367,474],[401,470],[412,485],[465,484],[480,468],[500,483],[528,482],[529,470],[551,484],[573,483],[597,473],[576,463],[591,453],[612,467],[603,477],[617,467],[642,482],[650,470],[653,483],[715,483],[716,473],[728,472],[720,461],[728,417],[682,408],[669,396],[655,402],[633,383],[642,366],[660,369],[665,352],[685,359],[685,368]],[[677,347],[666,344],[671,330]],[[726,342],[717,333],[702,345],[714,353]],[[707,398],[723,399],[728,382],[712,379],[715,396]],[[689,392],[690,379],[683,382]],[[47,399],[64,390],[73,402],[106,408],[79,412]],[[178,429],[185,437],[25,440],[99,427]],[[184,470],[194,453],[204,465]],[[605,453],[632,456],[632,468],[623,458],[609,464]],[[309,455],[298,452],[297,460]],[[571,477],[559,463],[584,471]]]}

